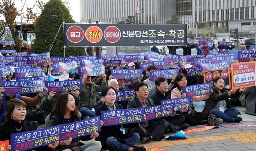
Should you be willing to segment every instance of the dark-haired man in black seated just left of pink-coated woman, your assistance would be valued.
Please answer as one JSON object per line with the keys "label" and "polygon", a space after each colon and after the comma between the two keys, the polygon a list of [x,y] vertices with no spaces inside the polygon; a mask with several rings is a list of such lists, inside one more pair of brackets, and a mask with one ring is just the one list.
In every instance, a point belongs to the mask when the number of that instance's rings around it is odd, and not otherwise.
{"label": "dark-haired man in black seated just left of pink-coated woman", "polygon": [[[155,80],[155,85],[156,90],[151,95],[149,95],[149,98],[154,101],[155,106],[160,105],[162,100],[171,99],[171,95],[168,93],[167,79],[165,77],[158,77]],[[189,127],[187,123],[183,123],[185,121],[185,117],[180,114],[181,112],[187,112],[187,110],[176,111],[176,115],[168,116],[165,118],[166,123],[168,124],[168,131],[177,132],[180,130],[185,130]],[[165,133],[168,131],[165,131]]]}

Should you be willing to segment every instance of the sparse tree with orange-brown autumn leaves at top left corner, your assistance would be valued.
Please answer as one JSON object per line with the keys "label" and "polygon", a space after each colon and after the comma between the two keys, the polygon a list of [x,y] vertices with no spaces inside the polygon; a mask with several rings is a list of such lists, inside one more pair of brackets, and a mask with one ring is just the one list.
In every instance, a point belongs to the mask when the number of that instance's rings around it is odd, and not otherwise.
{"label": "sparse tree with orange-brown autumn leaves at top left corner", "polygon": [[[21,8],[20,10],[17,10],[15,4],[15,0],[0,0],[0,14],[2,14],[5,18],[5,20],[1,20],[0,24],[1,26],[7,25],[9,27],[9,30],[11,32],[11,37],[13,40],[15,40],[16,44],[16,50],[18,51],[20,49],[20,40],[24,34],[23,28],[28,23],[31,23],[32,20],[35,20],[37,18],[37,14],[32,11],[32,9],[36,6],[37,1],[35,2],[35,5],[33,5],[31,8],[26,7],[26,13],[24,13],[26,0],[21,0]],[[21,18],[21,26],[16,31],[15,25],[16,25],[16,19],[17,17]],[[25,20],[25,22],[23,21]],[[24,23],[24,24],[23,24]],[[1,30],[1,29],[0,29]],[[1,36],[5,32],[5,30],[1,30]],[[16,37],[16,32],[18,33]]]}

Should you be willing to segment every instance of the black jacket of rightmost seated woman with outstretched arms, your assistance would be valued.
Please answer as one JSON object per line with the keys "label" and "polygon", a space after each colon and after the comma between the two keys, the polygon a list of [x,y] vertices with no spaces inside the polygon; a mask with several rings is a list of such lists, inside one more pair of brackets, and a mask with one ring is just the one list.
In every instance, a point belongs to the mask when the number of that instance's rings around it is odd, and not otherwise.
{"label": "black jacket of rightmost seated woman with outstretched arms", "polygon": [[208,118],[210,111],[213,109],[214,106],[217,105],[217,103],[219,101],[225,100],[227,103],[227,108],[230,108],[231,106],[229,106],[229,97],[236,97],[238,95],[240,95],[241,93],[239,92],[240,89],[237,89],[235,91],[234,94],[232,95],[228,95],[228,90],[224,87],[221,90],[222,94],[219,94],[218,89],[214,86],[214,84],[212,85],[212,89],[213,89],[213,93],[209,95],[209,99],[205,100],[205,105],[204,105],[204,109],[202,111],[202,113],[204,114],[204,116],[206,116]]}

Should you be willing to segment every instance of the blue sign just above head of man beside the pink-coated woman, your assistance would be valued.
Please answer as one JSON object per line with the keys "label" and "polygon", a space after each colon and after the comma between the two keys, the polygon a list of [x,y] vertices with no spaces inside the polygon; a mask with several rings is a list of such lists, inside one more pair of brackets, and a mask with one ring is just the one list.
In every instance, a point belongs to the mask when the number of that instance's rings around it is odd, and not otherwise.
{"label": "blue sign just above head of man beside the pink-coated woman", "polygon": [[151,81],[155,81],[160,76],[163,76],[166,79],[171,79],[172,76],[177,76],[177,69],[156,70],[150,72]]}

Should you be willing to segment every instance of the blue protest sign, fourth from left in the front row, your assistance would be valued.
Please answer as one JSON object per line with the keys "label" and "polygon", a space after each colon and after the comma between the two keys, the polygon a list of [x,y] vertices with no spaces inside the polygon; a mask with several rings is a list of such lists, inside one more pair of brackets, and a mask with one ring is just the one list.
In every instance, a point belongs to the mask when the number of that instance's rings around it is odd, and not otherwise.
{"label": "blue protest sign, fourth from left in the front row", "polygon": [[171,116],[174,114],[174,106],[174,102],[168,102],[164,105],[144,107],[144,114],[146,115],[146,120]]}

